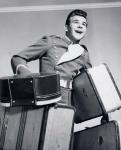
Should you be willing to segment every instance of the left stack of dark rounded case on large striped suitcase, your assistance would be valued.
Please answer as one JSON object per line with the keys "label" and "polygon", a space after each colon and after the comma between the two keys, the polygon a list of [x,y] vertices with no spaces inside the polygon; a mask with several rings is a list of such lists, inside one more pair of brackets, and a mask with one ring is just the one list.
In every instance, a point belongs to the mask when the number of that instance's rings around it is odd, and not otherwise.
{"label": "left stack of dark rounded case on large striped suitcase", "polygon": [[0,79],[0,150],[71,149],[75,111],[56,104],[59,83],[57,74]]}

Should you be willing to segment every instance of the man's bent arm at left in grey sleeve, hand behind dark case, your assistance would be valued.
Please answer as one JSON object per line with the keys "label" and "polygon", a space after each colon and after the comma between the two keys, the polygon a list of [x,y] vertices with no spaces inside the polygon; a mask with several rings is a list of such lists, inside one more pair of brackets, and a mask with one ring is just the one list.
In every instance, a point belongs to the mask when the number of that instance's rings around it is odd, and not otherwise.
{"label": "man's bent arm at left in grey sleeve, hand behind dark case", "polygon": [[28,69],[27,63],[41,58],[51,47],[51,38],[44,36],[35,44],[30,45],[18,54],[13,55],[11,58],[11,66],[14,74],[30,73],[31,71]]}

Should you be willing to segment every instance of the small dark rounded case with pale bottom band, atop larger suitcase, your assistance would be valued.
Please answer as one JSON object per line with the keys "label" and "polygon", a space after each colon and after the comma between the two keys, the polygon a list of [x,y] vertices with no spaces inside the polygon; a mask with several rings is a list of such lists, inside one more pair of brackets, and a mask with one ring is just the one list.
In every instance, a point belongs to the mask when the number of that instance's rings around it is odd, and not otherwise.
{"label": "small dark rounded case with pale bottom band, atop larger suitcase", "polygon": [[46,105],[61,100],[58,74],[38,73],[0,78],[2,106]]}

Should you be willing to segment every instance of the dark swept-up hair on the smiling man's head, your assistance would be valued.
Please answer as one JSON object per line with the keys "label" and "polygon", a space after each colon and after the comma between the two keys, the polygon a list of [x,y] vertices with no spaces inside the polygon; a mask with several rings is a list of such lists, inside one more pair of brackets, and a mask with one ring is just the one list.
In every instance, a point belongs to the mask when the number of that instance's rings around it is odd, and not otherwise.
{"label": "dark swept-up hair on the smiling man's head", "polygon": [[66,22],[65,22],[65,25],[69,25],[70,24],[70,18],[73,17],[73,16],[83,16],[85,19],[87,19],[87,13],[81,9],[75,9],[73,11],[71,11],[69,13],[69,15],[67,16],[67,19],[66,19]]}

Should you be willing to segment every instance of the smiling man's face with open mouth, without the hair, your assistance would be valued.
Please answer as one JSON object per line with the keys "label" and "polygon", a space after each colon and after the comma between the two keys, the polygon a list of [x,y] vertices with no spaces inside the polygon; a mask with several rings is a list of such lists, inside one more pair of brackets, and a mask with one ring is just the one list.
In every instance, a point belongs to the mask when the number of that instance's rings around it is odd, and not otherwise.
{"label": "smiling man's face with open mouth, without the hair", "polygon": [[67,26],[67,36],[73,42],[79,42],[86,34],[87,20],[83,16],[73,16]]}

